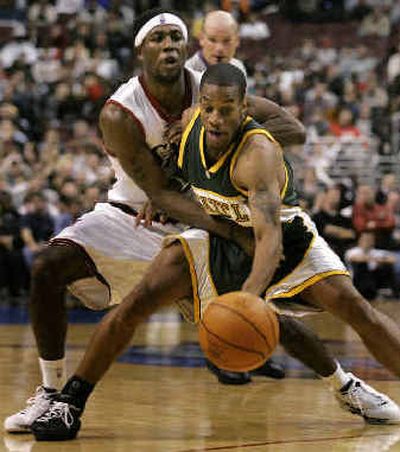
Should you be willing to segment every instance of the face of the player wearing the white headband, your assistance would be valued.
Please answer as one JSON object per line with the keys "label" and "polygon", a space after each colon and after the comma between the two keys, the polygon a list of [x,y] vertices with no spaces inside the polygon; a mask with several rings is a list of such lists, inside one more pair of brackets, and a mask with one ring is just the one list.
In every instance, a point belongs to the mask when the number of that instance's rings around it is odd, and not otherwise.
{"label": "face of the player wearing the white headband", "polygon": [[144,71],[160,82],[178,80],[186,56],[186,42],[177,25],[155,27],[146,36],[139,53]]}

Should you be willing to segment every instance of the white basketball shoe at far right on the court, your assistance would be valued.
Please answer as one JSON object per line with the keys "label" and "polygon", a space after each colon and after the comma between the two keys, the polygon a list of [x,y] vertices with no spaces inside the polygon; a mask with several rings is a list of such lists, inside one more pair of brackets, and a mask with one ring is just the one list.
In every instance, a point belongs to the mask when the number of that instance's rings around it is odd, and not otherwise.
{"label": "white basketball shoe at far right on the court", "polygon": [[335,391],[343,409],[362,416],[368,424],[400,424],[400,407],[392,399],[353,374],[348,375],[349,383]]}

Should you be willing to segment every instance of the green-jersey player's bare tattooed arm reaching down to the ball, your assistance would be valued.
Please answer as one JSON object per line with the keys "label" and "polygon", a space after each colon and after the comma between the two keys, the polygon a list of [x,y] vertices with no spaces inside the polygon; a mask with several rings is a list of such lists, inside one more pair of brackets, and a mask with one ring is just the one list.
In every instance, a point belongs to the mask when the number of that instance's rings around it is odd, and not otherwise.
{"label": "green-jersey player's bare tattooed arm reaching down to the ball", "polygon": [[255,295],[268,286],[282,257],[280,186],[284,177],[281,150],[265,136],[250,137],[233,181],[248,192],[256,243],[251,273],[242,289]]}

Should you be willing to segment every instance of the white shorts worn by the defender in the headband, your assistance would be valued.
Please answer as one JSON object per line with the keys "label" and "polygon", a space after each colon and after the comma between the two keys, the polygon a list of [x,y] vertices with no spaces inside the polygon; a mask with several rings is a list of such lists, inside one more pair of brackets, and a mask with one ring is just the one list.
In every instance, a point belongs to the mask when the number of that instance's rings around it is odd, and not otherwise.
{"label": "white shorts worn by the defender in the headband", "polygon": [[87,307],[97,310],[120,303],[159,253],[163,239],[183,230],[179,224],[154,222],[148,228],[136,227],[133,215],[111,204],[98,203],[51,243],[73,242],[89,255],[99,277],[80,279],[68,289]]}

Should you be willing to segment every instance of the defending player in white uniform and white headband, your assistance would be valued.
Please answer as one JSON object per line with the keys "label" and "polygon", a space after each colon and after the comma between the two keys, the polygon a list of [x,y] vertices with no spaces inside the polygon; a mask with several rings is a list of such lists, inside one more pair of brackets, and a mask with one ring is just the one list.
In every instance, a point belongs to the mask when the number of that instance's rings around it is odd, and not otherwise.
{"label": "defending player in white uniform and white headband", "polygon": [[[200,75],[183,69],[185,24],[175,14],[153,10],[137,19],[134,35],[143,73],[111,96],[100,117],[117,182],[107,203],[97,204],[62,231],[34,263],[30,310],[43,382],[27,407],[5,420],[8,432],[29,431],[32,421],[47,409],[50,396],[65,383],[66,290],[91,309],[120,303],[135,285],[132,275],[138,273],[138,265],[155,257],[165,234],[182,230],[179,224],[160,222],[136,227],[136,212],[147,195],[187,224],[243,247],[250,243],[240,228],[216,221],[170,189],[161,169],[160,161],[166,162],[169,154],[164,130],[196,101],[198,91]],[[283,110],[268,101],[258,102],[260,106],[271,118],[269,129],[278,140],[304,139],[301,126]]]}

